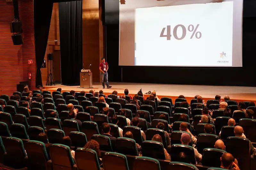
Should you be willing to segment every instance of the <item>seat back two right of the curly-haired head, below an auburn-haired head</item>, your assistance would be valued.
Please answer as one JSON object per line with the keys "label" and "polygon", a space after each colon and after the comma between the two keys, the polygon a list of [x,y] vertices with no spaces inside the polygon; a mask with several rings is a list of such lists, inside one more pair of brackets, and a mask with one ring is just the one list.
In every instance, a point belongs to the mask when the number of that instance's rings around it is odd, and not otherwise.
{"label": "seat back two right of the curly-haired head, below an auburn-haired head", "polygon": [[135,140],[126,137],[116,139],[116,152],[124,155],[139,156]]}

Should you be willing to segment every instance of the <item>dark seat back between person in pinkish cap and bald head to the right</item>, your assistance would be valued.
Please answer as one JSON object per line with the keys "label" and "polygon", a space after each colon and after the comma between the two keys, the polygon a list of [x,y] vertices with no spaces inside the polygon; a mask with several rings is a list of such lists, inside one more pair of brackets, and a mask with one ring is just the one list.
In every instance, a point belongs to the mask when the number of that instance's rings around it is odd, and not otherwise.
{"label": "dark seat back between person in pinkish cap and bald head to the right", "polygon": [[205,148],[214,148],[215,142],[218,139],[217,135],[199,134],[196,142],[197,151],[202,154]]}

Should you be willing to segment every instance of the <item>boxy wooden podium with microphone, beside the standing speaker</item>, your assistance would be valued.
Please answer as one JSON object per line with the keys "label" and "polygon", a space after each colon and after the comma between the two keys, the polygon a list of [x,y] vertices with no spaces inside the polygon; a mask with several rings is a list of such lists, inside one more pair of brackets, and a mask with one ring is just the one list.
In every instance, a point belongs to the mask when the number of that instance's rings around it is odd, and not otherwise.
{"label": "boxy wooden podium with microphone, beside the standing speaker", "polygon": [[81,70],[80,87],[93,88],[93,73],[91,70]]}

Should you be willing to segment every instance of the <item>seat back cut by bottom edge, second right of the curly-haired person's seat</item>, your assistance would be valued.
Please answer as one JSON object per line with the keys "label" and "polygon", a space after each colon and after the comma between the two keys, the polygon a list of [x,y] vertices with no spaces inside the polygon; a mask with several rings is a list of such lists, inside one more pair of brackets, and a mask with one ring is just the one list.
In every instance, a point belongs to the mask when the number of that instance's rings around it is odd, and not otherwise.
{"label": "seat back cut by bottom edge, second right of the curly-haired person's seat", "polygon": [[133,163],[133,170],[142,169],[161,170],[160,163],[157,159],[144,156],[136,157]]}

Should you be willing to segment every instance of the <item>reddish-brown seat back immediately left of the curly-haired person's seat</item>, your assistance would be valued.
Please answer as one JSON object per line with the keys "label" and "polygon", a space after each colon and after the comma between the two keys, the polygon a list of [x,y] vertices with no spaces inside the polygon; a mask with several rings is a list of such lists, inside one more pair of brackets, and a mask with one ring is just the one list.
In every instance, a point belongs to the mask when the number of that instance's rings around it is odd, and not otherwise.
{"label": "reddish-brown seat back immediately left of the curly-haired person's seat", "polygon": [[72,170],[75,164],[71,156],[70,147],[63,144],[52,144],[50,146],[50,156],[53,169]]}

